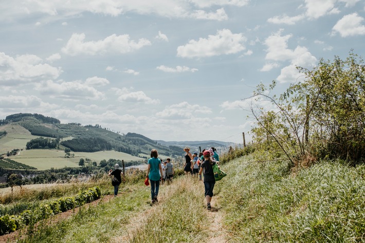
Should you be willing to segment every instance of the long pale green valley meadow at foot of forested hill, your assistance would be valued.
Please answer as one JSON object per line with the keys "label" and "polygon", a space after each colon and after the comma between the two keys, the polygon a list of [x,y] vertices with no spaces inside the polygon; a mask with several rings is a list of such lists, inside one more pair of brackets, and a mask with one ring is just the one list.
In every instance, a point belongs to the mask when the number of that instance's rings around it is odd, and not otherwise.
{"label": "long pale green valley meadow at foot of forested hill", "polygon": [[119,159],[124,161],[140,161],[139,157],[116,151],[100,151],[95,153],[71,152],[74,157],[65,158],[65,152],[57,149],[29,149],[21,151],[20,155],[10,157],[16,162],[36,167],[38,170],[49,170],[51,168],[61,169],[67,167],[78,167],[81,158],[96,161],[98,164],[105,159]]}

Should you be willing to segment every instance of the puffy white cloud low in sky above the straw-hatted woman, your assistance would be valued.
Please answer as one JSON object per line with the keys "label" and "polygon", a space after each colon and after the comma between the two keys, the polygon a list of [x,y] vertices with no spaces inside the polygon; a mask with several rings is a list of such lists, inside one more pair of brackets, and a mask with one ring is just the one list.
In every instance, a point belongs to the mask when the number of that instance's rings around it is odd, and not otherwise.
{"label": "puffy white cloud low in sky above the straw-hatted woman", "polygon": [[162,111],[156,113],[161,119],[193,119],[196,114],[211,114],[212,110],[207,106],[191,105],[188,102],[181,102],[167,106]]}

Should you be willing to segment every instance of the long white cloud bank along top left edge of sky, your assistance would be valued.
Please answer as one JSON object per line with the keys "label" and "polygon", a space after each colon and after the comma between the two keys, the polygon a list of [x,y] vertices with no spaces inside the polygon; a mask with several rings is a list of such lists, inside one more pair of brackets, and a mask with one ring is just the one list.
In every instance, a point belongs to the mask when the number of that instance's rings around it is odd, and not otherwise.
{"label": "long white cloud bank along top left edge of sky", "polygon": [[[118,16],[125,13],[137,13],[142,15],[159,15],[168,18],[196,18],[202,17],[196,14],[196,10],[212,6],[238,6],[242,7],[249,3],[249,0],[193,0],[193,1],[123,1],[123,0],[90,0],[87,3],[83,0],[65,2],[63,0],[27,1],[13,0],[7,4],[6,11],[0,15],[0,21],[16,21],[19,18],[32,16],[47,17],[53,16],[58,19],[80,16],[83,12]],[[21,8],[19,6],[22,6]],[[220,11],[204,14],[208,19],[220,19]],[[190,14],[193,13],[193,14]],[[213,17],[215,15],[215,17]],[[56,17],[57,16],[57,17]],[[63,22],[66,23],[66,22]]]}

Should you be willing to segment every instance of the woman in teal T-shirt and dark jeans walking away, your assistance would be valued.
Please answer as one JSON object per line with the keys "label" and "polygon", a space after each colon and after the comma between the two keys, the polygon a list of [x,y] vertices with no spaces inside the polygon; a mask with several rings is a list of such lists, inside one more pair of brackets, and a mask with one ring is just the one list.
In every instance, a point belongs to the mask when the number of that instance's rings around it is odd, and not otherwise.
{"label": "woman in teal T-shirt and dark jeans walking away", "polygon": [[160,187],[160,180],[162,179],[161,160],[158,157],[156,149],[151,150],[151,158],[148,160],[147,178],[150,179],[151,184],[151,198],[152,204],[158,202],[158,189]]}

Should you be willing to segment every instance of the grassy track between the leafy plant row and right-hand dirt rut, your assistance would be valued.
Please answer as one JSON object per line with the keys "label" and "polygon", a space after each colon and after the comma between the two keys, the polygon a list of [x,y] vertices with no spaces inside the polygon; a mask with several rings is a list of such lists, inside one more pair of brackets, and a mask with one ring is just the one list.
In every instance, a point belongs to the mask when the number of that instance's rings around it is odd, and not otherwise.
{"label": "grassy track between the leafy plant row and right-hand dirt rut", "polygon": [[203,183],[181,177],[160,189],[151,207],[149,187],[128,185],[97,207],[57,223],[44,221],[17,242],[205,242],[210,219]]}

